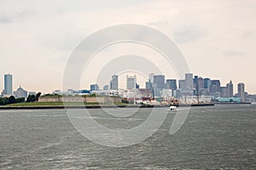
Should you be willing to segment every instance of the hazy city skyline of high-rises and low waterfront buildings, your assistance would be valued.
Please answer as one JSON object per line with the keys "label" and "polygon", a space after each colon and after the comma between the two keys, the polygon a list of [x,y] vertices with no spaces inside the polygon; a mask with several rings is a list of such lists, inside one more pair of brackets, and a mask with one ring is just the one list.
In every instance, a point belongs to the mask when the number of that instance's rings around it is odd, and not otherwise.
{"label": "hazy city skyline of high-rises and low waterfront buildings", "polygon": [[[248,94],[246,84],[239,82],[237,85],[232,81],[223,85],[220,80],[194,76],[192,73],[184,75],[185,79],[166,79],[165,75],[148,75],[148,81],[145,82],[146,88],[140,88],[137,84],[137,76],[126,76],[126,88],[119,88],[119,76],[113,75],[108,84],[99,87],[98,84],[90,84],[90,89],[55,89],[47,94],[52,95],[86,95],[96,94],[102,96],[119,96],[125,98],[131,103],[141,102],[144,100],[158,99],[159,101],[170,101],[178,99],[189,104],[193,103],[254,103],[256,95]],[[235,92],[234,86],[237,86]],[[36,95],[36,92],[27,91],[19,87],[13,90],[13,76],[4,75],[4,89],[1,97],[27,98]],[[44,94],[43,94],[44,95]]]}

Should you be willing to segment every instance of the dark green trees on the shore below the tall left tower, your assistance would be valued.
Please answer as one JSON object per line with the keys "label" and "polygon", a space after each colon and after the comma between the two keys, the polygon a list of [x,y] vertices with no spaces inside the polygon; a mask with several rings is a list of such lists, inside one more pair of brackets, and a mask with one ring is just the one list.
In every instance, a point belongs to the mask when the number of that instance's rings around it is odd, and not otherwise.
{"label": "dark green trees on the shore below the tall left tower", "polygon": [[0,98],[0,105],[10,105],[10,104],[16,104],[16,103],[24,103],[24,102],[35,102],[38,101],[39,97],[41,95],[41,92],[39,92],[38,94],[34,95],[28,95],[27,98],[17,98],[15,99],[15,96],[10,96],[8,97],[4,97],[4,98]]}

